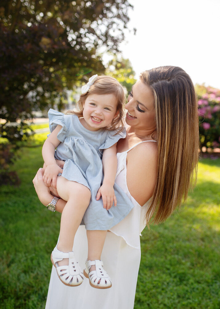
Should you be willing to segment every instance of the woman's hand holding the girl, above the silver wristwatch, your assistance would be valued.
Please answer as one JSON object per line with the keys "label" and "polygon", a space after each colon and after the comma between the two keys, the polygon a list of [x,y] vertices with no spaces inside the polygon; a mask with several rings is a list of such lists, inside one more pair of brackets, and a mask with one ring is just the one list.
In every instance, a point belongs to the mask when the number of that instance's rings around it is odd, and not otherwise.
{"label": "woman's hand holding the girl, above the silver wristwatch", "polygon": [[42,168],[39,168],[39,170],[37,171],[37,174],[33,179],[33,184],[39,200],[44,206],[47,206],[52,200],[53,196],[51,195],[49,187],[44,184]]}

